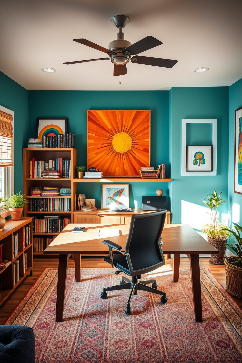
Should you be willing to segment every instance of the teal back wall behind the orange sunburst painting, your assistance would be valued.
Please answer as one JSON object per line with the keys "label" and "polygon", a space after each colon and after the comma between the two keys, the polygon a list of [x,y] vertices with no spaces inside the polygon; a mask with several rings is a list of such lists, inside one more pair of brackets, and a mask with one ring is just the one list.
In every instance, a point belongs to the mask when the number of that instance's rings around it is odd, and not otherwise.
{"label": "teal back wall behind the orange sunburst painting", "polygon": [[[29,91],[29,137],[36,135],[37,117],[68,117],[69,131],[76,135],[78,164],[86,165],[86,111],[91,109],[151,110],[151,166],[168,166],[169,91]],[[78,192],[95,198],[101,207],[102,183],[79,184]],[[142,195],[154,195],[158,188],[169,195],[168,183],[130,183],[130,207],[136,200],[141,208]]]}

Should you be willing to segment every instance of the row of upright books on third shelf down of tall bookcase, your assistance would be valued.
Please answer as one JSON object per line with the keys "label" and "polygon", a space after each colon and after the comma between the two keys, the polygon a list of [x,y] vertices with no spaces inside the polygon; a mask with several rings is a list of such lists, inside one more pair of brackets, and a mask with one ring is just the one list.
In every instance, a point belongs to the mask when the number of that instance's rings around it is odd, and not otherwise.
{"label": "row of upright books on third shelf down of tall bookcase", "polygon": [[29,210],[42,212],[70,212],[71,198],[31,198],[29,201]]}

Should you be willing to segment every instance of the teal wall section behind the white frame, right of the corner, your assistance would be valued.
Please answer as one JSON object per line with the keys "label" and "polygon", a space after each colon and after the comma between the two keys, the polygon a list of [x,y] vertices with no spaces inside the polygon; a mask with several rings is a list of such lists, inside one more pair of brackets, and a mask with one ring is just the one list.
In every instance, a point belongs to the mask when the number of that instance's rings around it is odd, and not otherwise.
{"label": "teal wall section behind the white frame, right of the corner", "polygon": [[[217,176],[181,176],[181,120],[183,118],[216,118],[218,122],[217,145]],[[229,87],[172,87],[170,90],[170,163],[172,183],[169,184],[172,195],[171,211],[173,223],[181,223],[181,212],[190,220],[197,219],[193,228],[199,226],[203,218],[204,206],[201,202],[206,195],[223,191],[227,200],[228,175],[228,118],[229,118]],[[208,126],[209,128],[209,126]],[[187,138],[190,142],[208,142],[204,135],[210,130],[197,132],[194,126],[189,130]],[[201,135],[200,135],[201,134]],[[182,209],[182,201],[185,207]],[[201,211],[200,211],[201,210]],[[227,213],[227,203],[221,207]],[[196,213],[196,215],[194,215]]]}

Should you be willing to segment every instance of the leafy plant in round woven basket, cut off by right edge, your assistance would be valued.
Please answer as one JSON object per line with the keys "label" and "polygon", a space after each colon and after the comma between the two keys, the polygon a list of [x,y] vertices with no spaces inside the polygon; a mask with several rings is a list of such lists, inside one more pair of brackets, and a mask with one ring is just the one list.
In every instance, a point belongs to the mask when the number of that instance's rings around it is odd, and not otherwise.
{"label": "leafy plant in round woven basket, cut off by right edge", "polygon": [[236,243],[226,243],[236,254],[225,258],[226,291],[242,299],[242,227],[238,223],[233,224],[235,231],[225,228],[225,231],[231,232],[236,240]]}

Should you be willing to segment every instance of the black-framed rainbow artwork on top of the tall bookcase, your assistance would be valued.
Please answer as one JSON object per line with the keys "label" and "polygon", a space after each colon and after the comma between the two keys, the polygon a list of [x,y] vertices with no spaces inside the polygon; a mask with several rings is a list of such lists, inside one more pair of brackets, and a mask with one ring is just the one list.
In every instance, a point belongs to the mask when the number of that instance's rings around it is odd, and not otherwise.
{"label": "black-framed rainbow artwork on top of the tall bookcase", "polygon": [[37,117],[36,138],[44,140],[44,136],[65,135],[68,118]]}

